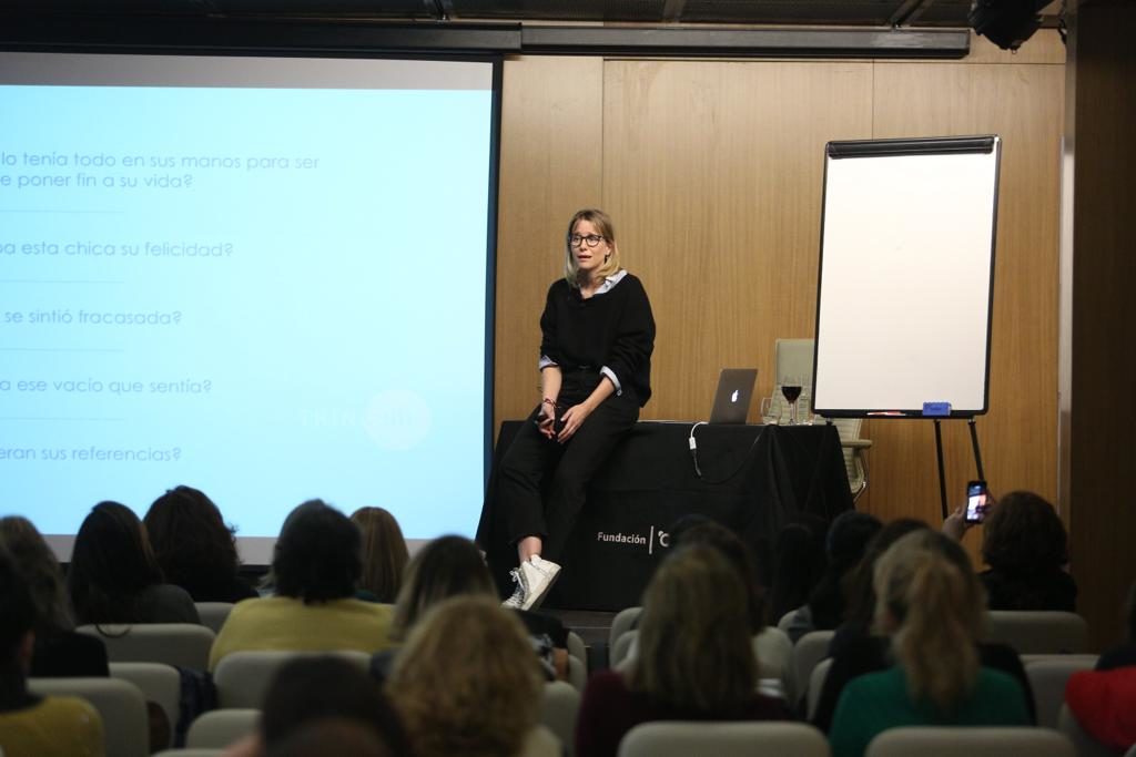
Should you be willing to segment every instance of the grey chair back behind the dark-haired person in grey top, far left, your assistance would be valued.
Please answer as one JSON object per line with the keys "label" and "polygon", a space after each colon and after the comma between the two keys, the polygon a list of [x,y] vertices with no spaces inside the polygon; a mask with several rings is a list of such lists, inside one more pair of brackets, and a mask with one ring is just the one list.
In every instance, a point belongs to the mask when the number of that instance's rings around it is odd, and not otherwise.
{"label": "grey chair back behind the dark-haired person in grey top, far left", "polygon": [[195,671],[208,670],[209,649],[217,637],[197,623],[81,625],[75,630],[100,639],[112,663],[165,663]]}

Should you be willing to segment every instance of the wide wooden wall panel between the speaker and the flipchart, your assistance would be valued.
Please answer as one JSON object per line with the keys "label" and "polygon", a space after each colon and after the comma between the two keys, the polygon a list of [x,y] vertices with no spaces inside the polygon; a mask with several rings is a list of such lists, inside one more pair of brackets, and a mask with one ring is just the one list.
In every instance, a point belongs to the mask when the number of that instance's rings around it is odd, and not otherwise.
{"label": "wide wooden wall panel between the speaker and the flipchart", "polygon": [[[871,128],[857,62],[609,61],[604,199],[658,323],[644,418],[705,420],[718,370],[811,336],[824,145]],[[751,418],[759,414],[758,403]]]}

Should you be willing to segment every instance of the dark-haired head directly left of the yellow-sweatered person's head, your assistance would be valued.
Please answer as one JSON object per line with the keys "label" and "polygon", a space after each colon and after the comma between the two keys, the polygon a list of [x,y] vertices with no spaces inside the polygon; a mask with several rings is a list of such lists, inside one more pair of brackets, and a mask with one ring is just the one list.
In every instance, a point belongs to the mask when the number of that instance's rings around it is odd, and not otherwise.
{"label": "dark-haired head directly left of the yellow-sweatered person's head", "polygon": [[150,505],[143,521],[169,583],[224,584],[240,567],[233,529],[203,491],[178,486]]}

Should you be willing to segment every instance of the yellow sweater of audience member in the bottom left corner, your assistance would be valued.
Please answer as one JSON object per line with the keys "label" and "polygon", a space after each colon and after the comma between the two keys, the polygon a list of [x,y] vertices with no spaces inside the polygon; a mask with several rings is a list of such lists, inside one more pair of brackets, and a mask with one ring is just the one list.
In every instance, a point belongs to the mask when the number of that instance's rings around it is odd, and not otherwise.
{"label": "yellow sweater of audience member in the bottom left corner", "polygon": [[5,757],[102,757],[102,718],[77,697],[44,697],[0,713],[0,749]]}

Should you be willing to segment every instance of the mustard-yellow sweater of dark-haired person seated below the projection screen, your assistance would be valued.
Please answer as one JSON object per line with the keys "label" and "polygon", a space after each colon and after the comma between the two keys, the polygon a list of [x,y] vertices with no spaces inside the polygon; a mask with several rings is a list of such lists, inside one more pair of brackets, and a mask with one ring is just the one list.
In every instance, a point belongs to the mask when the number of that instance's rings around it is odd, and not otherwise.
{"label": "mustard-yellow sweater of dark-haired person seated below the projection screen", "polygon": [[209,670],[222,657],[251,649],[375,653],[393,646],[393,607],[360,599],[303,604],[292,597],[245,599],[233,606],[209,653]]}

